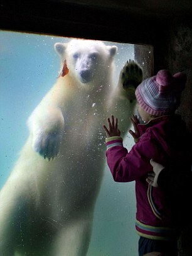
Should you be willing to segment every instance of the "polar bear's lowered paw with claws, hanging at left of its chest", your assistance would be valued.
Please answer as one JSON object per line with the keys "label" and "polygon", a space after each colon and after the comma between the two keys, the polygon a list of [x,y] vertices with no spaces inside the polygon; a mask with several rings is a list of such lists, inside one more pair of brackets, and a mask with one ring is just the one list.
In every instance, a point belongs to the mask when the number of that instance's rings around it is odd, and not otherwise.
{"label": "polar bear's lowered paw with claws, hanging at left of its chest", "polygon": [[53,160],[60,150],[62,140],[61,132],[40,132],[33,139],[33,148],[40,153],[44,159]]}

